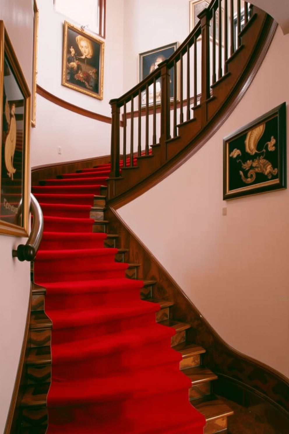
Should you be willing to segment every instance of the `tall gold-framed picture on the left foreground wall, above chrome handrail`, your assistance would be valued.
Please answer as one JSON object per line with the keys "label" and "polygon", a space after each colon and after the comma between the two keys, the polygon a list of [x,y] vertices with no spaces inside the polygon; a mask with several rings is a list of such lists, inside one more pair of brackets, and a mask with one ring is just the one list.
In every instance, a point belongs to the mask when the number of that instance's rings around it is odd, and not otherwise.
{"label": "tall gold-framed picture on the left foreground wall, above chrome handrail", "polygon": [[0,35],[0,232],[27,237],[31,98],[3,21],[0,21]]}

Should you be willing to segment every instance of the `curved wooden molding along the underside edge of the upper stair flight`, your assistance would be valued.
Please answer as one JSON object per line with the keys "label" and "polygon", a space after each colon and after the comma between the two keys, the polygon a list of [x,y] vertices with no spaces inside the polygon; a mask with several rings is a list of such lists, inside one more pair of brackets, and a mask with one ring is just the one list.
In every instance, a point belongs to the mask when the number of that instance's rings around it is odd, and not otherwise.
{"label": "curved wooden molding along the underside edge of the upper stair flight", "polygon": [[244,94],[247,92],[251,82],[256,76],[263,59],[270,47],[273,36],[276,32],[278,23],[274,21],[270,16],[267,16],[266,23],[264,25],[264,34],[262,41],[258,41],[256,49],[254,50],[250,62],[246,67],[246,72],[238,80],[232,92],[228,95],[227,99],[220,110],[214,115],[214,117],[208,122],[208,124],[201,130],[201,132],[194,137],[194,139],[188,143],[188,145],[182,149],[177,155],[168,160],[161,167],[156,169],[153,173],[149,174],[145,179],[137,184],[132,185],[129,189],[120,193],[117,197],[113,197],[107,202],[114,209],[120,208],[123,205],[128,204],[136,197],[148,191],[150,188],[161,182],[167,176],[177,170],[182,164],[184,164],[189,158],[191,158],[207,141],[218,131],[221,125],[227,120],[234,109],[237,107]]}

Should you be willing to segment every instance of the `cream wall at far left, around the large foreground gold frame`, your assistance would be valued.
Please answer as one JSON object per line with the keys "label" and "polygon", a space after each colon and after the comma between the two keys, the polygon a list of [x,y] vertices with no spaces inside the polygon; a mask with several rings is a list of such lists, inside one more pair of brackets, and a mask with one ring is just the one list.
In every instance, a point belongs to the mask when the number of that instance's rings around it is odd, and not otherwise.
{"label": "cream wall at far left, around the large foreground gold frame", "polygon": [[[31,89],[32,1],[0,0],[0,19]],[[12,258],[12,249],[20,243],[26,239],[0,234],[0,433],[10,406],[29,300],[30,263]]]}

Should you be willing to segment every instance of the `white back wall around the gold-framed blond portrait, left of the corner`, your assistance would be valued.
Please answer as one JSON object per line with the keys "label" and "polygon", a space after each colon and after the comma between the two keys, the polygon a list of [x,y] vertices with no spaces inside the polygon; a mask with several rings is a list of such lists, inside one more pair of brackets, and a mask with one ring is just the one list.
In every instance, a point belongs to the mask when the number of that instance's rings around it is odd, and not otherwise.
{"label": "white back wall around the gold-framed blond portrait, left of the corner", "polygon": [[[55,12],[53,1],[38,0],[37,4],[38,85],[73,105],[111,116],[110,99],[123,93],[123,0],[106,2],[103,100],[62,86],[63,23],[64,20],[71,21]],[[31,166],[109,155],[110,131],[109,124],[79,117],[37,95],[36,128],[31,136]],[[61,155],[58,154],[58,146],[62,147]]]}

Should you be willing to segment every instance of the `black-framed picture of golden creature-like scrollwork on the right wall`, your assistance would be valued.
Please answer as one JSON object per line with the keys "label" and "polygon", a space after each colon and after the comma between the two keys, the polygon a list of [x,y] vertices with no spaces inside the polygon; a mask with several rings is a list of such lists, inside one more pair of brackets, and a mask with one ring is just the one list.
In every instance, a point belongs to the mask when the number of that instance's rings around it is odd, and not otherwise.
{"label": "black-framed picture of golden creature-like scrollwork on the right wall", "polygon": [[223,140],[223,199],[286,188],[286,103]]}

